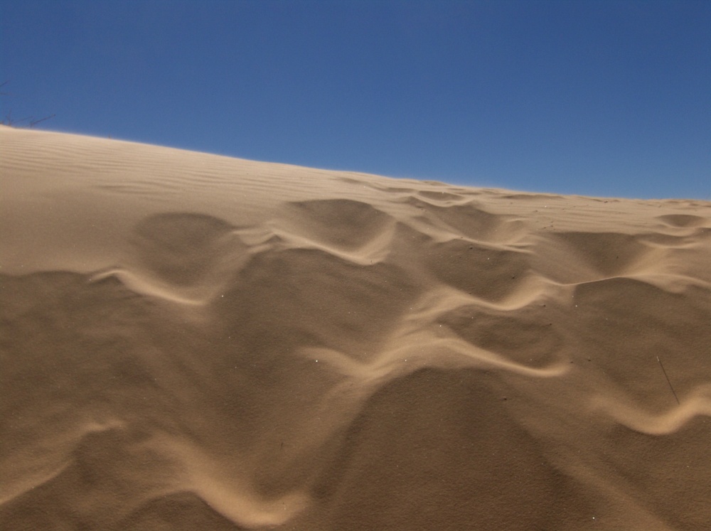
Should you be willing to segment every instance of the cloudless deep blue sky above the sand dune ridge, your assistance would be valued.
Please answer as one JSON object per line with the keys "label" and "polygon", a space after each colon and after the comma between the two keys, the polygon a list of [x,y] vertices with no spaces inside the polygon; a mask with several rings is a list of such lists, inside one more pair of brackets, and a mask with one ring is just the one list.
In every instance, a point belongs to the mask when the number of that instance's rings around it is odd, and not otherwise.
{"label": "cloudless deep blue sky above the sand dune ridge", "polygon": [[711,199],[711,1],[0,6],[1,114],[56,114],[43,129],[473,186]]}

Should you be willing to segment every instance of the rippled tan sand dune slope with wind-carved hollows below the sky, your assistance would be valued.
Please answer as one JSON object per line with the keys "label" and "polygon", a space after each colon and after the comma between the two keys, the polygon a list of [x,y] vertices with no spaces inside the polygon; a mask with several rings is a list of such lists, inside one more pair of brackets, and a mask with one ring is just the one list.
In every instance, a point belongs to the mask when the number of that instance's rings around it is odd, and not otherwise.
{"label": "rippled tan sand dune slope with wind-carved hollows below the sky", "polygon": [[2,530],[711,529],[711,203],[0,161]]}

